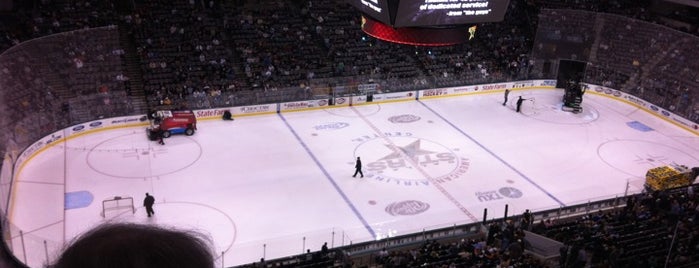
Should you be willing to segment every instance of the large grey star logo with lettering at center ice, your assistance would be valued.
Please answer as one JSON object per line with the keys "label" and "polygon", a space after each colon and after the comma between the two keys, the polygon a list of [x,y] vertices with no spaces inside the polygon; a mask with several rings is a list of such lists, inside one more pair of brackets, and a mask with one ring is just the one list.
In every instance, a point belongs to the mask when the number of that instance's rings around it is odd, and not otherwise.
{"label": "large grey star logo with lettering at center ice", "polygon": [[[470,161],[453,150],[409,132],[368,135],[359,142],[355,156],[361,157],[365,177],[399,186],[429,186],[458,179]],[[354,163],[352,163],[354,164]]]}

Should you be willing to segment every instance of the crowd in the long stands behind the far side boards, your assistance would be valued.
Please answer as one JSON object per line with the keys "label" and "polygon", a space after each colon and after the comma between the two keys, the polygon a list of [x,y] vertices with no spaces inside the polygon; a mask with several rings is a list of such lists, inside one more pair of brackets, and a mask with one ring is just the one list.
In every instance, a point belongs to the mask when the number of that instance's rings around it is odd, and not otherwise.
{"label": "crowd in the long stands behind the far side boards", "polygon": [[430,49],[369,37],[336,1],[150,1],[125,17],[151,106],[208,108],[328,95],[339,80],[399,91],[525,77],[531,29],[517,3],[477,41]]}

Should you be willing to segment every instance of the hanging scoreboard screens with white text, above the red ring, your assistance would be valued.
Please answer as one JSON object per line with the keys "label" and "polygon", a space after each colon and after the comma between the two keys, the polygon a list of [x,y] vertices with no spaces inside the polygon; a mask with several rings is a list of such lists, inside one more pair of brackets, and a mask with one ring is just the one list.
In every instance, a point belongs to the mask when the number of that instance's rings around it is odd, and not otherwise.
{"label": "hanging scoreboard screens with white text, above the red ring", "polygon": [[393,27],[435,27],[497,22],[509,0],[348,0],[362,13]]}

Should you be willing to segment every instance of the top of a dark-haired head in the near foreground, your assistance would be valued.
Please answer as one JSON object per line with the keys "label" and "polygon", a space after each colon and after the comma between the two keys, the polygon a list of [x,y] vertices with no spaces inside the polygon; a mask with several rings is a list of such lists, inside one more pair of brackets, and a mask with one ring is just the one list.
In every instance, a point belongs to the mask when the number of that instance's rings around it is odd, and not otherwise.
{"label": "top of a dark-haired head in the near foreground", "polygon": [[51,268],[213,268],[211,241],[193,231],[109,223],[80,236]]}

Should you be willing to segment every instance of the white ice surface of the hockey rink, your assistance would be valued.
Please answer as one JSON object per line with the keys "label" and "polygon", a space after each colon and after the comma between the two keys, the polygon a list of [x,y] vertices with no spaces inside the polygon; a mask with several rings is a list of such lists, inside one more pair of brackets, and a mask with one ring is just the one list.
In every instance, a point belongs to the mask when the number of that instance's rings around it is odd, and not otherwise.
{"label": "white ice surface of the hockey rink", "polygon": [[[503,106],[494,91],[207,120],[165,145],[143,127],[94,132],[24,165],[10,221],[25,243],[48,248],[27,250],[32,267],[104,221],[199,230],[218,265],[234,266],[477,222],[484,209],[500,218],[506,205],[518,215],[638,193],[649,168],[699,166],[692,131],[596,92],[582,113],[564,112],[562,95],[514,90]],[[364,178],[352,177],[357,157]],[[135,213],[102,217],[114,196],[133,197]]]}

